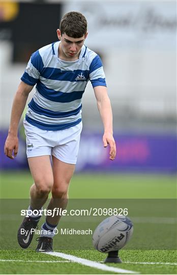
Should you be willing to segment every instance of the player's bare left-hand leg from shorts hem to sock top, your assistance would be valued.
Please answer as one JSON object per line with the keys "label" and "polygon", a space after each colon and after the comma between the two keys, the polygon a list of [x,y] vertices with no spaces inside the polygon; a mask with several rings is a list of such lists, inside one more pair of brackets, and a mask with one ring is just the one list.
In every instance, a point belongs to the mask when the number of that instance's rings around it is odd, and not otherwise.
{"label": "player's bare left-hand leg from shorts hem to sock top", "polygon": [[30,205],[33,209],[41,209],[53,186],[50,156],[30,157],[28,163],[35,182],[30,189]]}

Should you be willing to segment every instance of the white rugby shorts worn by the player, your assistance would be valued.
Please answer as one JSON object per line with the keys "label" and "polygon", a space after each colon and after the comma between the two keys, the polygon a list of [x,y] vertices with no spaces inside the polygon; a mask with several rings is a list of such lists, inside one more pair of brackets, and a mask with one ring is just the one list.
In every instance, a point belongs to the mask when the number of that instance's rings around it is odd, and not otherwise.
{"label": "white rugby shorts worn by the player", "polygon": [[40,129],[25,119],[23,125],[26,134],[27,158],[53,155],[63,162],[76,164],[82,122],[58,131]]}

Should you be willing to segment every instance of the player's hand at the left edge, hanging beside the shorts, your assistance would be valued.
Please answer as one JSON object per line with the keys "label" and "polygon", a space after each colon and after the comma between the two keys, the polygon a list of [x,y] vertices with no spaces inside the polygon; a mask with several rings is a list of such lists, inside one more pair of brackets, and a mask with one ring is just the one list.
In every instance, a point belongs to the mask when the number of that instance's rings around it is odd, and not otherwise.
{"label": "player's hand at the left edge, hanging beside the shorts", "polygon": [[4,153],[7,157],[14,159],[18,153],[18,136],[8,135],[5,146]]}

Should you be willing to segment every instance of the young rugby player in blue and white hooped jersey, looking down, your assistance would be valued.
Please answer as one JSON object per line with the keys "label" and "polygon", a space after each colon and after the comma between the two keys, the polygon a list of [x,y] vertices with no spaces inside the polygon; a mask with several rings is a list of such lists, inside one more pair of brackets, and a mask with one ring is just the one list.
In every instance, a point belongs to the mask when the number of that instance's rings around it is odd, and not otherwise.
{"label": "young rugby player in blue and white hooped jersey, looking down", "polygon": [[[13,101],[5,143],[6,156],[14,159],[18,152],[18,123],[28,94],[36,85],[36,93],[28,104],[24,119],[26,153],[34,179],[28,208],[32,211],[42,209],[50,191],[52,197],[47,209],[65,208],[67,205],[68,187],[74,173],[82,129],[81,98],[88,80],[92,82],[104,125],[103,145],[109,144],[111,160],[116,154],[102,62],[94,51],[84,45],[87,37],[85,17],[79,12],[65,14],[60,29],[57,29],[57,37],[59,41],[34,52],[27,64]],[[22,248],[30,245],[33,238],[31,229],[37,227],[39,219],[40,215],[33,214],[24,218],[18,230],[18,242]],[[46,216],[37,252],[52,251],[52,237],[59,219],[58,215]],[[22,234],[24,230],[27,235]]]}

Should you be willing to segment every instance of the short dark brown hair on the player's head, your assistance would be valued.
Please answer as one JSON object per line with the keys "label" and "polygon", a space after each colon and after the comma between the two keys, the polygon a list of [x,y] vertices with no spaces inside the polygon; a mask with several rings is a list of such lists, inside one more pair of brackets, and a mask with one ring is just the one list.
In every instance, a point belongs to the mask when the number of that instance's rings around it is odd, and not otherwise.
{"label": "short dark brown hair on the player's head", "polygon": [[87,22],[80,12],[66,13],[60,22],[60,31],[73,38],[79,38],[86,34]]}

